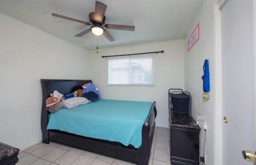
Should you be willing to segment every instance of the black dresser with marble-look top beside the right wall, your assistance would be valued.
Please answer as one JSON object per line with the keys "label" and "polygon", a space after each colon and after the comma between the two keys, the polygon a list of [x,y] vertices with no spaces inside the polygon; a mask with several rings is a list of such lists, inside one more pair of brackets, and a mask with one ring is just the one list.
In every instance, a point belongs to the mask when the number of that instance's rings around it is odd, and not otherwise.
{"label": "black dresser with marble-look top beside the right wall", "polygon": [[199,125],[191,116],[169,114],[171,165],[199,165]]}

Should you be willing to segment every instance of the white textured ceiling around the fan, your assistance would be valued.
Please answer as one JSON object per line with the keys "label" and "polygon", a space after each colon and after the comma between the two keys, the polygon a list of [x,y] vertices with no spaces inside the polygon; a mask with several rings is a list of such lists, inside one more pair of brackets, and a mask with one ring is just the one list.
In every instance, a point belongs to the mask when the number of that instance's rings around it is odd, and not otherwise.
{"label": "white textured ceiling around the fan", "polygon": [[[98,37],[99,48],[184,39],[202,0],[99,0],[106,4],[106,24],[135,26],[134,32],[107,31],[115,39]],[[90,25],[52,16],[52,13],[90,22],[95,0],[0,0],[0,13],[88,50],[96,49],[92,32],[74,37]],[[17,27],[18,28],[18,27]]]}

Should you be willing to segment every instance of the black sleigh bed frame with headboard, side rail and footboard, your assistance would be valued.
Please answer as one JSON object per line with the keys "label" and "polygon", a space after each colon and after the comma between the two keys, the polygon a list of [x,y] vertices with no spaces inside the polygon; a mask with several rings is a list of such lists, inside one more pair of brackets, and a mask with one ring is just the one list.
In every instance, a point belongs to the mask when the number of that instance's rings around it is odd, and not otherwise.
{"label": "black sleigh bed frame with headboard, side rail and footboard", "polygon": [[48,115],[49,112],[45,110],[46,99],[50,97],[50,93],[54,90],[60,93],[67,94],[81,89],[84,83],[92,83],[91,80],[40,80],[42,85],[42,112],[41,112],[41,129],[42,142],[49,144],[49,141],[54,141],[64,145],[70,145],[81,149],[93,151],[96,153],[116,157],[138,163],[138,165],[148,165],[150,150],[153,141],[155,118],[156,118],[156,102],[153,103],[148,118],[142,126],[142,145],[135,149],[126,147],[121,144],[111,143],[110,141],[92,139],[75,135],[58,130],[48,130]]}

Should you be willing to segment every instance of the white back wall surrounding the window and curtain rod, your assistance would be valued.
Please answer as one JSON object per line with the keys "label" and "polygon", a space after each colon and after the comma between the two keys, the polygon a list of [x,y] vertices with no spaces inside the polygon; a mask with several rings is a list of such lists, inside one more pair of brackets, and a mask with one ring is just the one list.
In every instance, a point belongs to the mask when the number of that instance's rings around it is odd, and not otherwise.
{"label": "white back wall surrounding the window and curtain rod", "polygon": [[[108,58],[102,58],[102,56],[162,50],[164,53],[154,54],[154,87],[108,86]],[[88,70],[90,78],[100,89],[102,98],[156,101],[156,125],[168,127],[168,90],[170,88],[184,89],[184,40],[100,49],[98,54],[96,50],[91,50],[90,64],[90,70]]]}

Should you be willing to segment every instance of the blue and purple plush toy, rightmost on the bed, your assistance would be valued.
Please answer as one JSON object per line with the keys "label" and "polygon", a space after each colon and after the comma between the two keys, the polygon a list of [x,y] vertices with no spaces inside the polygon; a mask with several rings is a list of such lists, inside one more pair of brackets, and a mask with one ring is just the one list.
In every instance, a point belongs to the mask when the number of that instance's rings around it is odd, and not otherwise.
{"label": "blue and purple plush toy, rightmost on the bed", "polygon": [[83,97],[86,97],[89,101],[98,101],[100,99],[100,91],[93,83],[87,83],[82,85]]}

